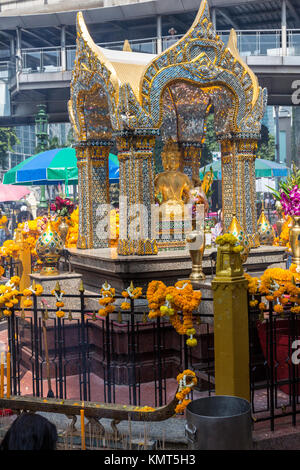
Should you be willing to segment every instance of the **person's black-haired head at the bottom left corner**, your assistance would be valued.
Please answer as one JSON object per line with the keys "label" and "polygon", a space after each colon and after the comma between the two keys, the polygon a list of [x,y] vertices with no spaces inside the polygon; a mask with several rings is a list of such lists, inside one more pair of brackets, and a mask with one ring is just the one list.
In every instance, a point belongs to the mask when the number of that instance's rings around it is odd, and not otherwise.
{"label": "person's black-haired head at the bottom left corner", "polygon": [[22,413],[10,426],[0,450],[55,450],[57,430],[39,414]]}

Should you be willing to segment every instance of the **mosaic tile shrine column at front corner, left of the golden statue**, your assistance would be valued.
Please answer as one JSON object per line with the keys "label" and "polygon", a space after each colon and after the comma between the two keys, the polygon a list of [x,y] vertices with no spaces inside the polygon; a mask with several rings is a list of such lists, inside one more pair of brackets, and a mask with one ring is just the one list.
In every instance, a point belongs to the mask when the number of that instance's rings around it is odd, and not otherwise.
{"label": "mosaic tile shrine column at front corner, left of the golden statue", "polygon": [[151,206],[154,204],[155,133],[149,135],[143,130],[135,130],[133,134],[124,131],[117,136],[117,144],[120,165],[118,254],[157,254],[156,240],[152,239],[151,217]]}

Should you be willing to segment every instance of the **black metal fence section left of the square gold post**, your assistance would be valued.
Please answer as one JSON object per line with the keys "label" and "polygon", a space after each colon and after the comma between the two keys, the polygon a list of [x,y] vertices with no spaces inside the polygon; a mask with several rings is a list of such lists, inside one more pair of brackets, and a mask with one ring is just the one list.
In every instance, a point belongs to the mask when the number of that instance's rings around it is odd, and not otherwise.
{"label": "black metal fence section left of the square gold post", "polygon": [[12,309],[12,394],[45,397],[51,389],[62,399],[162,406],[176,390],[177,374],[188,368],[197,373],[198,390],[212,393],[212,315],[194,315],[198,345],[190,349],[168,321],[149,320],[146,300],[103,318],[94,308],[98,299],[83,290],[64,295],[64,318],[51,308],[51,294],[33,296],[30,308]]}

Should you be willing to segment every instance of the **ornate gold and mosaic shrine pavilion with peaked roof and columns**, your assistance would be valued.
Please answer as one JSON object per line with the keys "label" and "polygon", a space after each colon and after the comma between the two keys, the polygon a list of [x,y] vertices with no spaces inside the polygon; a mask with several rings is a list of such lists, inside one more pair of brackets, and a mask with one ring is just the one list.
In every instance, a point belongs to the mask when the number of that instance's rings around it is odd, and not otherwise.
{"label": "ornate gold and mosaic shrine pavilion with peaked roof and columns", "polygon": [[[69,115],[77,137],[80,246],[108,246],[96,229],[97,208],[109,203],[107,162],[116,139],[120,195],[127,201],[120,205],[118,252],[157,252],[151,217],[156,138],[165,145],[172,141],[181,153],[181,171],[197,177],[212,110],[221,144],[225,226],[236,214],[252,246],[259,244],[255,153],[267,92],[236,44],[234,30],[227,45],[216,34],[206,0],[188,32],[155,57],[96,46],[78,13]],[[138,243],[132,244],[132,232]]]}

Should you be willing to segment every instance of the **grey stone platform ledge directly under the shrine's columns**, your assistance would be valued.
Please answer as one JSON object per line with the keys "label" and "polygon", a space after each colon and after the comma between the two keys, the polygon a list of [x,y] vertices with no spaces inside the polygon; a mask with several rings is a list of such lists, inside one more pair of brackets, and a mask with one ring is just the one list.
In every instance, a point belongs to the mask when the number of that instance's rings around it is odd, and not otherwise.
{"label": "grey stone platform ledge directly under the shrine's columns", "polygon": [[[270,265],[285,267],[285,248],[262,246],[250,251],[244,267],[248,272],[264,271]],[[117,293],[133,281],[135,286],[145,287],[157,279],[171,285],[178,279],[187,278],[192,269],[188,250],[162,251],[150,256],[118,256],[116,248],[79,250],[69,249],[71,263],[76,273],[82,274],[86,289],[99,291],[108,281]],[[207,249],[203,258],[203,271],[212,275],[213,257],[216,249]]]}

